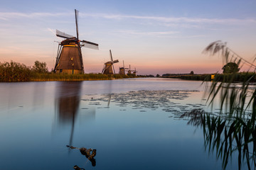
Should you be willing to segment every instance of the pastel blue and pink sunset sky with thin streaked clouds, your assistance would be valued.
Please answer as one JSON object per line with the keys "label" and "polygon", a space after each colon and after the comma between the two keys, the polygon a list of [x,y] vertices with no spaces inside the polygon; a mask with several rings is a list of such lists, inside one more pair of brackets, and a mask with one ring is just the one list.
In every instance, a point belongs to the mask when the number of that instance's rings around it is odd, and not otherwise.
{"label": "pastel blue and pink sunset sky with thin streaked clouds", "polygon": [[82,47],[85,73],[102,72],[110,50],[116,72],[124,61],[154,75],[222,72],[220,56],[202,53],[216,40],[250,62],[256,54],[255,0],[9,0],[0,6],[0,62],[38,60],[52,69],[63,40],[55,30],[76,35],[75,8],[80,40],[100,48]]}

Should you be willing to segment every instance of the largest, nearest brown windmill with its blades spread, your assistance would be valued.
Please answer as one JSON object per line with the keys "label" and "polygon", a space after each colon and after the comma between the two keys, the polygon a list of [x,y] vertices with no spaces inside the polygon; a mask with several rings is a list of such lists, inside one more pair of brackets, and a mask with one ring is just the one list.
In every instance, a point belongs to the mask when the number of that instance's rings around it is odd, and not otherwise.
{"label": "largest, nearest brown windmill with its blades spread", "polygon": [[84,73],[84,67],[82,62],[82,51],[81,47],[92,48],[95,50],[99,49],[99,45],[94,42],[86,40],[79,40],[78,37],[78,10],[75,9],[75,26],[77,36],[68,35],[56,30],[56,36],[65,38],[58,45],[58,52],[56,57],[56,63],[54,72],[77,74]]}

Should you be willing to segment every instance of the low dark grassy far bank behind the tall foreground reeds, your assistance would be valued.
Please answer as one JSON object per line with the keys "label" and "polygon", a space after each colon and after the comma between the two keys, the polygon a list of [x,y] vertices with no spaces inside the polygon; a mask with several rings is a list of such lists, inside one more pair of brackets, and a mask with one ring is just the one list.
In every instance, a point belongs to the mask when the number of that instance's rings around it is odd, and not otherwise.
{"label": "low dark grassy far bank behind the tall foreground reeds", "polygon": [[[163,78],[173,78],[173,79],[186,79],[186,80],[200,80],[200,81],[210,81],[211,75],[213,74],[187,74],[187,75],[173,75]],[[214,74],[215,81],[233,81],[233,82],[243,82],[250,79],[250,82],[256,82],[255,72],[238,72],[235,74]]]}

